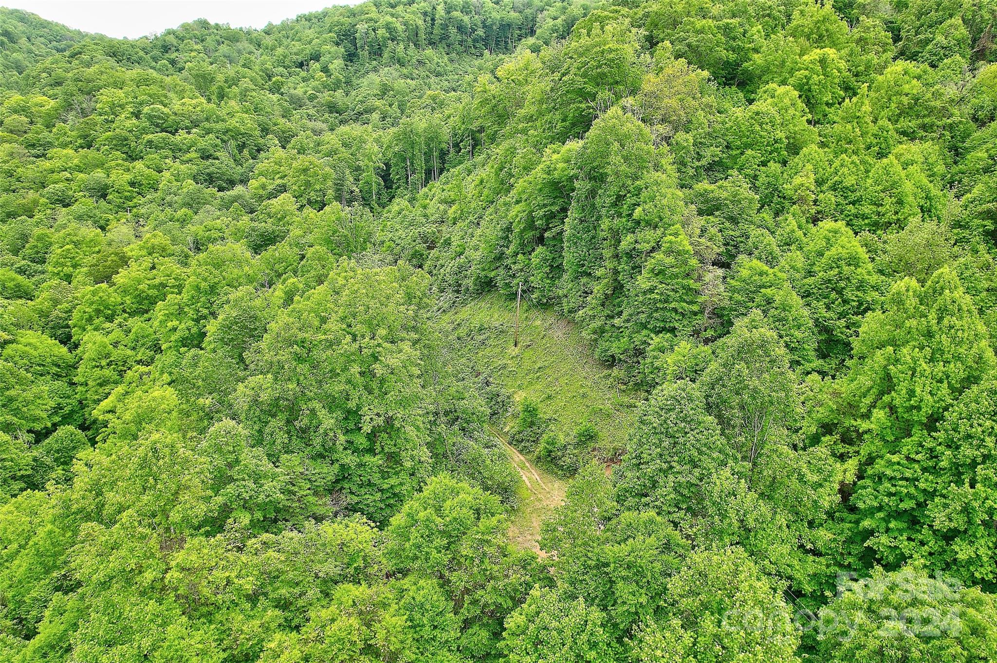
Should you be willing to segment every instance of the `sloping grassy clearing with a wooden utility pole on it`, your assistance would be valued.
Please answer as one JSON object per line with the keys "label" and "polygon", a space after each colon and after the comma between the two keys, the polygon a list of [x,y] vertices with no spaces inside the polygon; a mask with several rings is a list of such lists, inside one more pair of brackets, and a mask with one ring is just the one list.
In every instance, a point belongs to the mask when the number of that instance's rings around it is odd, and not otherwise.
{"label": "sloping grassy clearing with a wooden utility pole on it", "polygon": [[589,422],[599,431],[604,455],[623,449],[637,401],[592,357],[589,342],[569,321],[523,301],[519,346],[512,347],[515,302],[489,296],[450,312],[447,322],[480,370],[515,400],[533,399],[562,435],[573,436]]}

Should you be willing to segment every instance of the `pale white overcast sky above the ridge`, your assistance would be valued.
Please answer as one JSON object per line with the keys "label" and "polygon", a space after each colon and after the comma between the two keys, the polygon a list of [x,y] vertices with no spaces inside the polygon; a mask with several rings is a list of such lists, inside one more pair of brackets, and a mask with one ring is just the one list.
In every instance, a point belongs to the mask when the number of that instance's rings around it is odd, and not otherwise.
{"label": "pale white overcast sky above the ridge", "polygon": [[359,0],[0,0],[2,7],[108,37],[137,38],[205,18],[235,28],[262,28],[331,5]]}

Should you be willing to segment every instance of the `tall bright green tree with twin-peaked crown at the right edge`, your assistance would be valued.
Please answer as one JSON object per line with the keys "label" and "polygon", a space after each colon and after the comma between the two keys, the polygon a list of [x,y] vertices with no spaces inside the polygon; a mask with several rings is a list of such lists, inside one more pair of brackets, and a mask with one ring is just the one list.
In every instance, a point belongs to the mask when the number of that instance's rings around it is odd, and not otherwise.
{"label": "tall bright green tree with twin-peaked crown at the right edge", "polygon": [[[901,281],[884,311],[863,323],[843,384],[854,408],[853,453],[860,468],[852,512],[856,535],[883,563],[950,554],[926,511],[933,491],[925,489],[933,482],[925,478],[936,476],[941,458],[955,452],[937,446],[935,436],[949,408],[995,367],[973,302],[947,268],[923,288],[912,279]],[[955,421],[949,426],[958,426]],[[962,471],[972,473],[973,465]],[[967,481],[974,483],[969,476],[953,477],[934,490],[951,493]],[[968,521],[956,527],[972,530]]]}

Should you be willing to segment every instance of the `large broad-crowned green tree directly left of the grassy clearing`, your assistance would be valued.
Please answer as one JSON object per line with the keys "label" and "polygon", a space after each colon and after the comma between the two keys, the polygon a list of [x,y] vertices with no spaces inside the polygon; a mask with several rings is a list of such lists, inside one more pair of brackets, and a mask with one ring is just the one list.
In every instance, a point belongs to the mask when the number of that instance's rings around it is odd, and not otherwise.
{"label": "large broad-crowned green tree directly left of the grassy clearing", "polygon": [[411,268],[342,264],[282,312],[250,355],[235,401],[253,444],[271,461],[300,455],[321,490],[387,518],[425,476],[427,306]]}

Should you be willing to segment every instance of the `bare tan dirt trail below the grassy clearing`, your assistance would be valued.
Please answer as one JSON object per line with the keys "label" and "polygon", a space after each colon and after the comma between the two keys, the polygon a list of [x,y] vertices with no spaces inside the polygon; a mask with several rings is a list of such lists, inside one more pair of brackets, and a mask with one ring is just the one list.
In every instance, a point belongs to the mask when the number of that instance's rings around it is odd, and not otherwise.
{"label": "bare tan dirt trail below the grassy clearing", "polygon": [[523,491],[519,494],[519,506],[509,524],[509,540],[520,548],[529,549],[540,556],[540,524],[553,509],[564,502],[564,482],[537,468],[518,449],[508,443],[505,435],[494,426],[489,430],[508,451],[512,467],[522,478]]}

